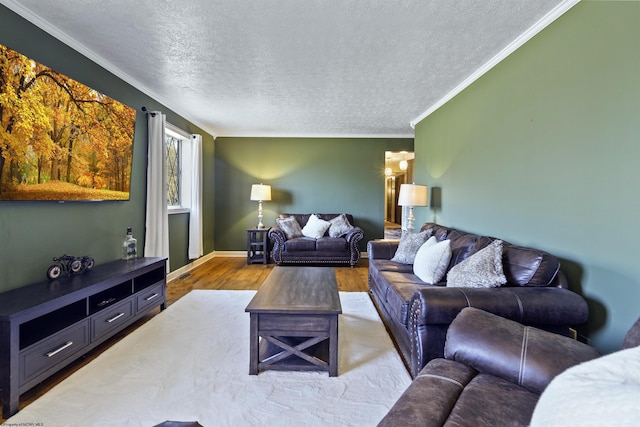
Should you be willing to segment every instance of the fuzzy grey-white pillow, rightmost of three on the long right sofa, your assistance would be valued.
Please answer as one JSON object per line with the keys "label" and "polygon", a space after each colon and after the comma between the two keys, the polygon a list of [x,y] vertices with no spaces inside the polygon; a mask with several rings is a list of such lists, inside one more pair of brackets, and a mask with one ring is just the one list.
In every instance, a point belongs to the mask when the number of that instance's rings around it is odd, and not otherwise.
{"label": "fuzzy grey-white pillow, rightmost of three on the long right sofa", "polygon": [[507,283],[502,271],[502,240],[453,266],[447,274],[448,287],[497,288]]}

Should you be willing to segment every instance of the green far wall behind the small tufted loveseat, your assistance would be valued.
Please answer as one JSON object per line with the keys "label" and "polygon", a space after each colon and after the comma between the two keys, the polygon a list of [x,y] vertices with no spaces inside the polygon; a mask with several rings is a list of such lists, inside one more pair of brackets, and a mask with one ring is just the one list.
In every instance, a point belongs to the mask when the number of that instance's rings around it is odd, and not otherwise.
{"label": "green far wall behind the small tufted loveseat", "polygon": [[279,213],[350,213],[366,242],[384,233],[384,152],[413,150],[413,139],[217,138],[217,251],[246,250],[258,223],[252,184],[271,185],[263,223]]}

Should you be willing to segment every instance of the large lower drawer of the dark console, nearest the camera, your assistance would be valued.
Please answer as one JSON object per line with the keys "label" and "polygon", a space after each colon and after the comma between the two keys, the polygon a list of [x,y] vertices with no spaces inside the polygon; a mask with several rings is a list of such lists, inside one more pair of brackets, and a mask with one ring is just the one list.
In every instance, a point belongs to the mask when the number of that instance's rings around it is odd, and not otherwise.
{"label": "large lower drawer of the dark console, nearest the camera", "polygon": [[47,369],[73,359],[69,357],[89,344],[89,320],[52,335],[20,352],[20,386]]}

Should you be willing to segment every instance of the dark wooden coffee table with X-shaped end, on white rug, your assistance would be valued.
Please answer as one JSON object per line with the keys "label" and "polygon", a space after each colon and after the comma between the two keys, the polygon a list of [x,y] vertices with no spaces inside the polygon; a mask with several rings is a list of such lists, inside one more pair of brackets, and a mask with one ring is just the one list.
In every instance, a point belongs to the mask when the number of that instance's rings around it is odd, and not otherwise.
{"label": "dark wooden coffee table with X-shaped end, on white rug", "polygon": [[338,315],[342,313],[331,267],[275,267],[253,297],[249,374],[259,371],[328,371],[338,375]]}

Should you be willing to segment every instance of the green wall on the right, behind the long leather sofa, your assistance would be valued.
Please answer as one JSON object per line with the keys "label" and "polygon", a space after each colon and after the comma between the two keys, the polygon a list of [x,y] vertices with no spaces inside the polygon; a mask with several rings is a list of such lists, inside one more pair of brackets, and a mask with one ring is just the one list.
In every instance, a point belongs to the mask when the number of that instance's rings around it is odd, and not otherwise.
{"label": "green wall on the right, behind the long leather sofa", "polygon": [[433,220],[550,251],[591,342],[640,315],[640,3],[581,2],[416,127]]}

